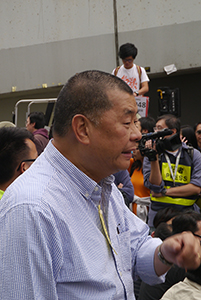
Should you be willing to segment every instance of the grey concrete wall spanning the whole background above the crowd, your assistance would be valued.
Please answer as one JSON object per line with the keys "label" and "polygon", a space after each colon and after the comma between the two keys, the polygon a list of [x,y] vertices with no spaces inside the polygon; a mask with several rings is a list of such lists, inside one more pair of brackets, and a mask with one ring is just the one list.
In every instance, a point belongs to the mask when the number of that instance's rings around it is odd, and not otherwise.
{"label": "grey concrete wall spanning the whole background above the crowd", "polygon": [[[167,76],[163,67],[172,63],[178,74],[199,71],[200,1],[116,4],[119,45],[136,44],[136,63],[150,67],[155,85],[161,85],[160,79]],[[13,104],[21,98],[57,96],[76,72],[111,72],[115,67],[112,0],[1,1],[0,14],[0,121],[11,118]],[[193,87],[190,75],[189,86]]]}

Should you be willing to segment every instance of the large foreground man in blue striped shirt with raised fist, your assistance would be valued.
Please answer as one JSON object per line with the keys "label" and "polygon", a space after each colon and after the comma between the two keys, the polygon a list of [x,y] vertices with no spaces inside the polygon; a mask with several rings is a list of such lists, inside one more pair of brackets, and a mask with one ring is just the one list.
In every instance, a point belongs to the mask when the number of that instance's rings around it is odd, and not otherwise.
{"label": "large foreground man in blue striped shirt with raised fist", "polygon": [[126,206],[114,174],[141,138],[130,87],[101,71],[59,93],[53,139],[0,205],[0,299],[129,299],[133,279],[163,281],[172,265],[197,268],[192,233],[163,243]]}

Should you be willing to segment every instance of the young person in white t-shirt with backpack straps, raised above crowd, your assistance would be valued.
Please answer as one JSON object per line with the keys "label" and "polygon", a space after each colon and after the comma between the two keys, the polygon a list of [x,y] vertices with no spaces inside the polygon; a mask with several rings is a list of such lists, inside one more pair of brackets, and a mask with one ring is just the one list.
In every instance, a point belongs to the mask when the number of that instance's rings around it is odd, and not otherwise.
{"label": "young person in white t-shirt with backpack straps, raised above crowd", "polygon": [[133,44],[121,45],[119,57],[122,59],[123,65],[112,71],[113,75],[121,78],[130,86],[135,97],[149,91],[149,78],[145,69],[133,63],[137,53],[138,50]]}

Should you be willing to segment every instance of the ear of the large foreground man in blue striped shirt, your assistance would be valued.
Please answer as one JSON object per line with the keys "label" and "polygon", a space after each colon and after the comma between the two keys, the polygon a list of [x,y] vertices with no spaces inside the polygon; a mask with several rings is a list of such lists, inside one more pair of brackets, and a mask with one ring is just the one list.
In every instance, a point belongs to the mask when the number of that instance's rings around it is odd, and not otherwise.
{"label": "ear of the large foreground man in blue striped shirt", "polygon": [[72,119],[72,129],[75,137],[82,144],[89,143],[90,121],[84,115],[75,115]]}

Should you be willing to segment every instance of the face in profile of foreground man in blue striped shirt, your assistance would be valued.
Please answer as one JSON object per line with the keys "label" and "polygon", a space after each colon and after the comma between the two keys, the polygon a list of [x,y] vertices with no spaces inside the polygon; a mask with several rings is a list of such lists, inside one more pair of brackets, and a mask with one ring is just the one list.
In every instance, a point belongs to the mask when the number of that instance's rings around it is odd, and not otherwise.
{"label": "face in profile of foreground man in blue striped shirt", "polygon": [[133,95],[120,90],[110,90],[108,97],[113,107],[106,111],[97,127],[93,127],[91,146],[99,165],[97,172],[109,175],[130,165],[131,151],[141,133],[136,127],[137,104]]}

